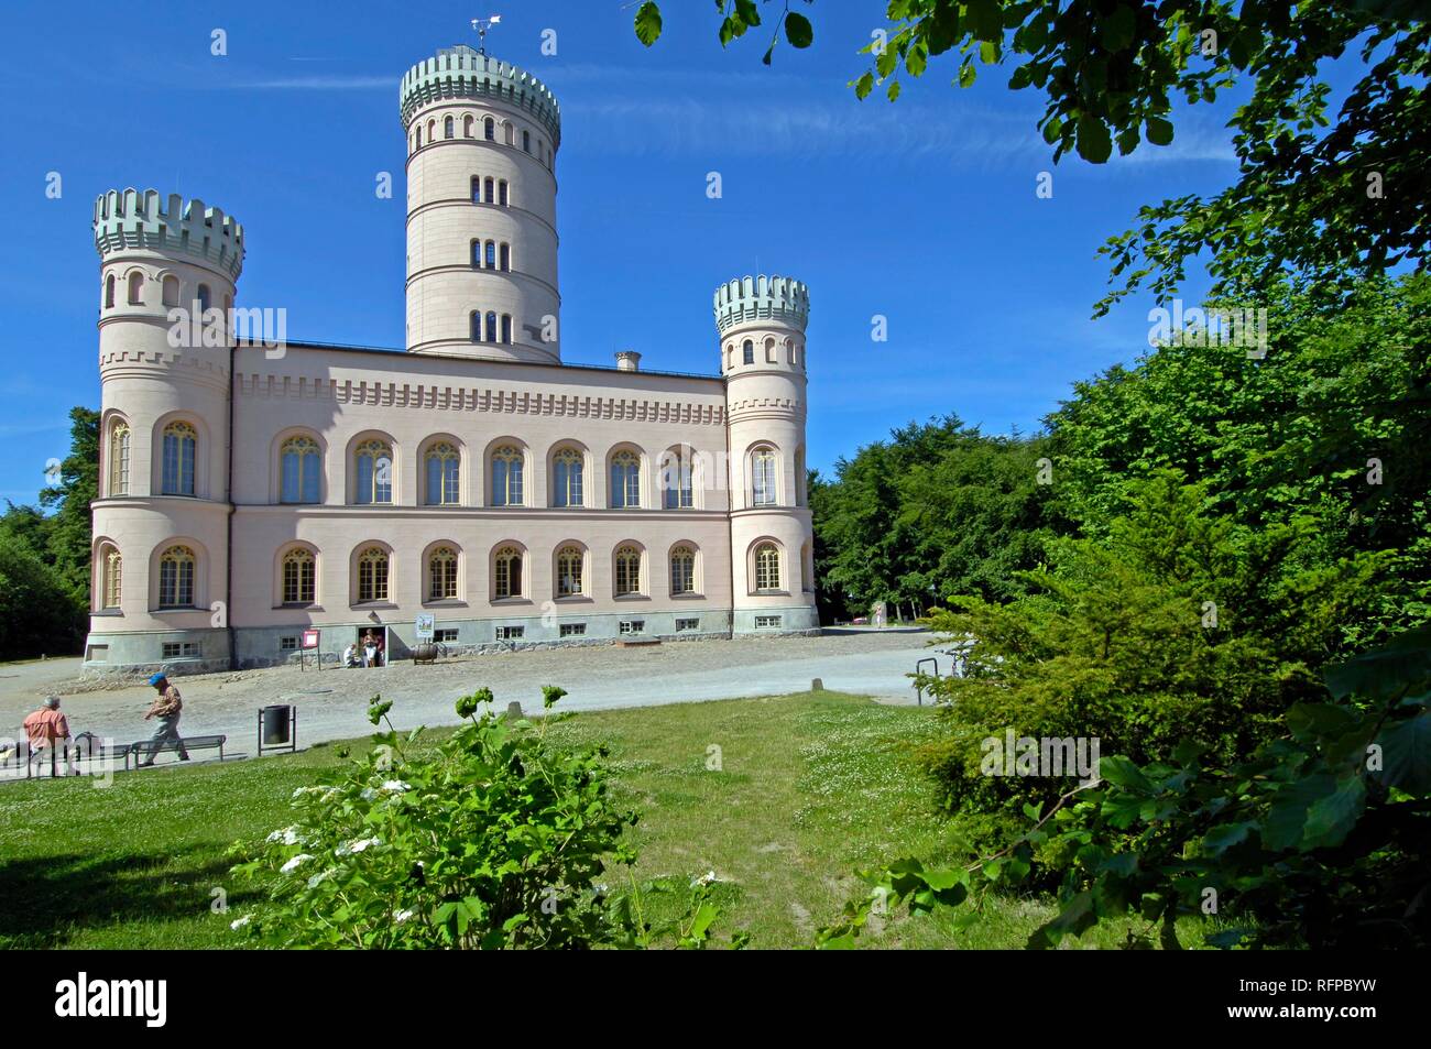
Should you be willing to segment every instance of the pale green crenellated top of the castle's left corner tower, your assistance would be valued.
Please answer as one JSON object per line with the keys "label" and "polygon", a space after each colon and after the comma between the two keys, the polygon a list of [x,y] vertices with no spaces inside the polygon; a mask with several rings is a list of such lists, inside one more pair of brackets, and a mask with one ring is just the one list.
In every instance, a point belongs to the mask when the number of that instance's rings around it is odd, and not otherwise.
{"label": "pale green crenellated top of the castle's left corner tower", "polygon": [[100,258],[122,250],[195,255],[239,279],[243,269],[243,226],[203,200],[167,200],[159,190],[112,189],[94,200],[94,248]]}

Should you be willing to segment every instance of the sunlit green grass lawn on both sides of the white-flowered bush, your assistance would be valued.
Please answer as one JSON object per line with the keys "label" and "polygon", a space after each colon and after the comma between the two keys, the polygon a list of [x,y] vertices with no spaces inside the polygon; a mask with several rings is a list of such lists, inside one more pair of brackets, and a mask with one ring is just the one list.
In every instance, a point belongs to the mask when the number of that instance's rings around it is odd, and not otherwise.
{"label": "sunlit green grass lawn on both sides of the white-flowered bush", "polygon": [[[641,820],[633,876],[714,872],[716,939],[801,947],[861,889],[859,867],[950,856],[950,823],[907,757],[937,731],[927,708],[837,693],[580,714],[548,728],[560,746],[604,741],[617,797]],[[710,770],[718,747],[720,770]],[[0,786],[0,946],[223,947],[260,889],[229,874],[232,843],[288,819],[295,787],[341,761],[335,746],[296,756]],[[628,884],[612,869],[612,889]],[[226,899],[228,912],[216,910]],[[1022,947],[1053,909],[999,899],[963,933],[949,917],[899,919],[864,937],[884,947]],[[1113,946],[1118,929],[1085,943]],[[1188,942],[1188,937],[1185,937]]]}

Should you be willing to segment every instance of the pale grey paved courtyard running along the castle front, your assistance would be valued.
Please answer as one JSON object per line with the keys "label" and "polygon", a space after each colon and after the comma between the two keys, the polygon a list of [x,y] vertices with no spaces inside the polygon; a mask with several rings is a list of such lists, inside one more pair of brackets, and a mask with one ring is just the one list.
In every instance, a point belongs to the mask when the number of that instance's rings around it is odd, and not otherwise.
{"label": "pale grey paved courtyard running along the castle front", "polygon": [[[185,697],[185,736],[223,733],[226,753],[252,754],[258,711],[269,703],[298,707],[301,746],[372,731],[373,694],[394,701],[398,728],[454,724],[456,697],[487,685],[499,708],[517,700],[541,708],[541,685],[570,696],[562,710],[645,707],[664,703],[778,696],[804,691],[811,678],[836,691],[913,701],[906,674],[934,655],[923,631],[830,631],[821,637],[683,641],[637,648],[585,647],[454,658],[435,665],[398,663],[375,670],[248,670],[177,678]],[[946,670],[947,658],[940,658]],[[17,737],[20,721],[47,694],[63,698],[72,731],[92,731],[119,743],[145,738],[143,721],[155,691],[143,684],[86,691],[79,660],[0,665],[0,737]],[[160,758],[163,761],[165,758]],[[172,760],[172,758],[170,758]]]}

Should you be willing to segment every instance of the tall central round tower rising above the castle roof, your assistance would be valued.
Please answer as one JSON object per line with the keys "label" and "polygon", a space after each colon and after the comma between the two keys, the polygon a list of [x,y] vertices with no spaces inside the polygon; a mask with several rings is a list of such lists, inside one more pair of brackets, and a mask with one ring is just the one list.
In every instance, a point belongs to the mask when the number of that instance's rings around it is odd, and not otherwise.
{"label": "tall central round tower rising above the castle roof", "polygon": [[408,352],[561,361],[561,110],[537,77],[465,44],[402,77]]}

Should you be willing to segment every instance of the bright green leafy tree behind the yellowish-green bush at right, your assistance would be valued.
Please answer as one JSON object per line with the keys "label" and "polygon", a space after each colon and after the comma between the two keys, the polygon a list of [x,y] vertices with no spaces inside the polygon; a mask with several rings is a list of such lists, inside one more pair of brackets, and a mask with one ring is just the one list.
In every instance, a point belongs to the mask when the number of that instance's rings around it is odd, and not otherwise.
{"label": "bright green leafy tree behind the yellowish-green bush at right", "polygon": [[1431,279],[1367,280],[1347,308],[1279,283],[1265,356],[1208,339],[1159,346],[1075,386],[1047,418],[1066,512],[1106,531],[1130,485],[1173,468],[1248,528],[1309,521],[1307,564],[1398,551],[1379,613],[1431,613]]}

